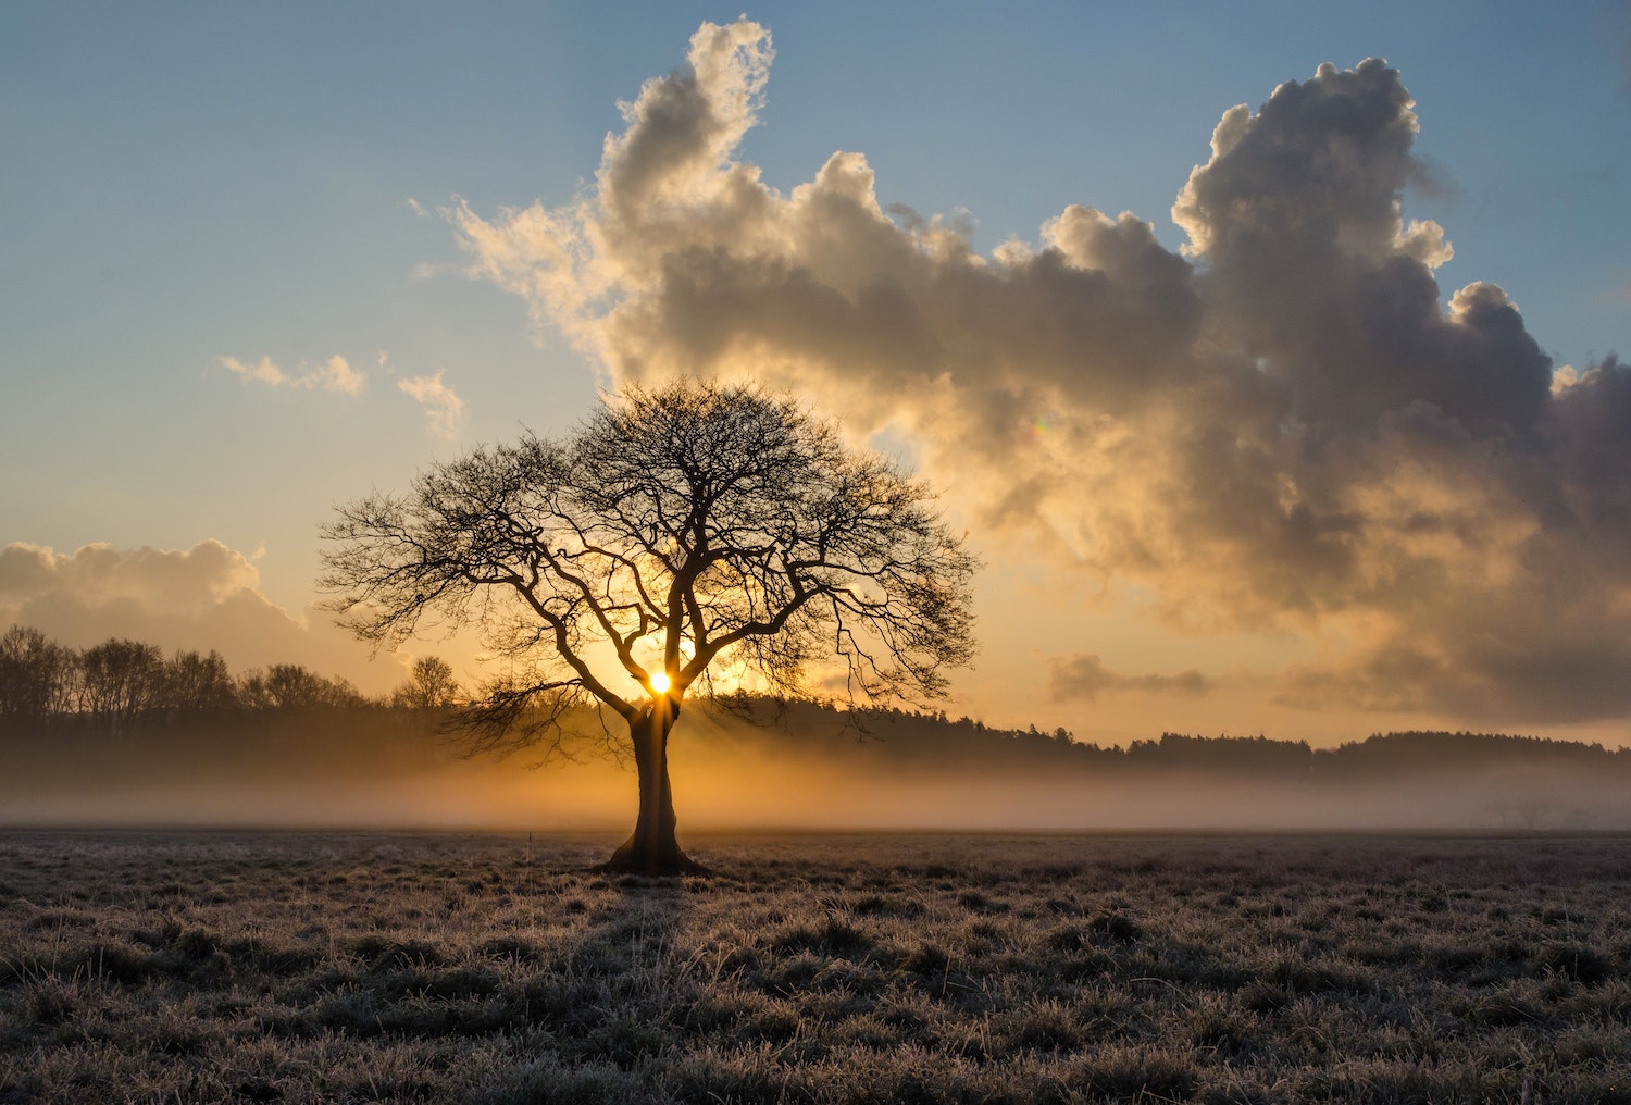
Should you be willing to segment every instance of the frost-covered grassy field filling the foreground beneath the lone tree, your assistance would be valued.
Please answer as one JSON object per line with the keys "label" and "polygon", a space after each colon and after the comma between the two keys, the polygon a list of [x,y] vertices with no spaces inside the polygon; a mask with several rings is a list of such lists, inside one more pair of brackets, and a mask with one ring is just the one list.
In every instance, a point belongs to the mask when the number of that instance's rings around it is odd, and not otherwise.
{"label": "frost-covered grassy field filling the foreground beneath the lone tree", "polygon": [[0,1102],[1631,1102],[1624,837],[0,836]]}

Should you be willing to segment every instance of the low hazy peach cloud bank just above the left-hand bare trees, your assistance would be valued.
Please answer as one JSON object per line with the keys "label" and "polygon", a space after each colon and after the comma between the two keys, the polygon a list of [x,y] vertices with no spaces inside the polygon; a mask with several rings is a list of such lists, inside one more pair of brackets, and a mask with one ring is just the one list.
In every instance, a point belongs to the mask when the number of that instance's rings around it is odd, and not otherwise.
{"label": "low hazy peach cloud bank just above the left-hand bare trees", "polygon": [[400,664],[369,664],[367,650],[321,614],[294,617],[259,591],[253,560],[219,540],[192,548],[85,545],[59,553],[0,547],[0,628],[31,625],[88,648],[109,637],[171,650],[219,650],[236,671],[300,663],[369,690],[401,679]]}

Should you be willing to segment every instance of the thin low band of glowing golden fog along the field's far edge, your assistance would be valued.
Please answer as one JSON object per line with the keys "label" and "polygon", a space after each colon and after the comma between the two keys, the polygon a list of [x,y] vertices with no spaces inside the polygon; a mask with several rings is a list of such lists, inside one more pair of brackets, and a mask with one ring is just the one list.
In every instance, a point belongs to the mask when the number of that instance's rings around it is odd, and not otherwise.
{"label": "thin low band of glowing golden fog along the field's far edge", "polygon": [[[1623,785],[1553,775],[1342,785],[1179,777],[1062,783],[819,770],[675,772],[680,834],[726,829],[944,831],[1624,831]],[[390,780],[142,783],[7,795],[5,828],[626,831],[634,777],[615,770],[447,772]]]}

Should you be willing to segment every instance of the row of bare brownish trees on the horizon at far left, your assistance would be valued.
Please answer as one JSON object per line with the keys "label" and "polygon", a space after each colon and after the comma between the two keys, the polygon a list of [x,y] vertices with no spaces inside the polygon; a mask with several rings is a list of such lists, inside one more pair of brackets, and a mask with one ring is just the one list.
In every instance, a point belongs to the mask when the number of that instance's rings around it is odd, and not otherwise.
{"label": "row of bare brownish trees on the horizon at far left", "polygon": [[80,723],[126,731],[147,721],[196,721],[232,713],[445,707],[460,695],[452,668],[435,656],[388,695],[364,695],[346,679],[300,664],[233,674],[217,651],[176,651],[108,638],[77,650],[36,628],[0,635],[0,725],[49,728]]}

